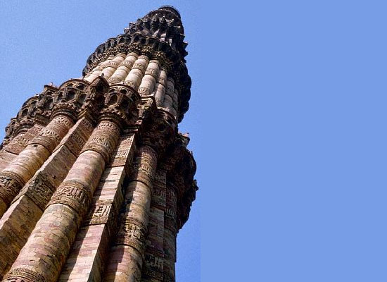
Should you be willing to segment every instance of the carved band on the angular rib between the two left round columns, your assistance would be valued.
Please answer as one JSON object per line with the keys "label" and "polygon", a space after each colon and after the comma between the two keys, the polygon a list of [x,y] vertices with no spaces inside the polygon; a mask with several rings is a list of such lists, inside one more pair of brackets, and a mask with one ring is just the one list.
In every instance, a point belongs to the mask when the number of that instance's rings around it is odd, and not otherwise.
{"label": "carved band on the angular rib between the two left round columns", "polygon": [[12,202],[16,202],[22,195],[27,195],[39,209],[44,211],[47,202],[51,199],[55,187],[42,176],[41,173],[37,173],[37,176],[32,178],[20,191],[17,197]]}

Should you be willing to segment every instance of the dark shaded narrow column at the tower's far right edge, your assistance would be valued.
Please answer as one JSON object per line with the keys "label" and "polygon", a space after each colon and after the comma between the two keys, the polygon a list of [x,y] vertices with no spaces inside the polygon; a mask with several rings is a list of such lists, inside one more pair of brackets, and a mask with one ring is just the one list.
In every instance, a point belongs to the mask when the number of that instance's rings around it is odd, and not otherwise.
{"label": "dark shaded narrow column at the tower's far right edge", "polygon": [[175,282],[177,195],[176,188],[167,182],[167,197],[164,216],[164,275],[163,282]]}

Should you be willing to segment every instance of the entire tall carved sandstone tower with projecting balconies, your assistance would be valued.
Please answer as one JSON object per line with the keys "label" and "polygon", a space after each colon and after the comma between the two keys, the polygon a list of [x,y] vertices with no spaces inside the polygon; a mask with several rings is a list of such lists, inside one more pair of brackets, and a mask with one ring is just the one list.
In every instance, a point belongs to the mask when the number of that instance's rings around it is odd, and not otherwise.
{"label": "entire tall carved sandstone tower with projecting balconies", "polygon": [[0,151],[2,281],[175,281],[196,163],[179,12],[151,11],[45,85]]}

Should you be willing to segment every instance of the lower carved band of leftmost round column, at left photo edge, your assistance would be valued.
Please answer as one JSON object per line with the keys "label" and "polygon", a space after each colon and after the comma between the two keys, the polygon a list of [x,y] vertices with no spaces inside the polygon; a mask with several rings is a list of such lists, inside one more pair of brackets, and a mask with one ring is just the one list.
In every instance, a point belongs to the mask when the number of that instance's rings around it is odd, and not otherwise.
{"label": "lower carved band of leftmost round column, at left photo edge", "polygon": [[24,180],[18,174],[2,171],[0,173],[0,198],[9,206],[23,185]]}

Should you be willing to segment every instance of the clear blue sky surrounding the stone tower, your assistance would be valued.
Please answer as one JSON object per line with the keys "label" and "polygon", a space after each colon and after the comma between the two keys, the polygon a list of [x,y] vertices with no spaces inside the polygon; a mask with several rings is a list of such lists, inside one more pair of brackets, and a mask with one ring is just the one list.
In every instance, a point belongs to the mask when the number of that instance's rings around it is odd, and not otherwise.
{"label": "clear blue sky surrounding the stone tower", "polygon": [[181,12],[200,190],[178,282],[387,281],[383,1],[37,2],[0,4],[1,128],[129,21]]}

